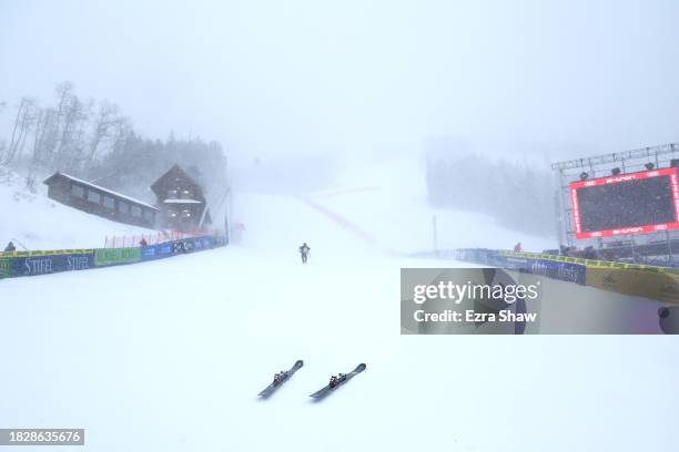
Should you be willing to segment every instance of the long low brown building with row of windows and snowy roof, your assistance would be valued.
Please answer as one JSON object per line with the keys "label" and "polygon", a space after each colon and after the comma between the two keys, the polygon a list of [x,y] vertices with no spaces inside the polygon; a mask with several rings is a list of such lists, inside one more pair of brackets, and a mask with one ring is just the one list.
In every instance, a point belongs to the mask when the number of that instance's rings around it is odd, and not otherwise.
{"label": "long low brown building with row of windows and snowy roof", "polygon": [[154,228],[160,209],[90,182],[54,173],[44,181],[48,196],[68,206],[114,222]]}

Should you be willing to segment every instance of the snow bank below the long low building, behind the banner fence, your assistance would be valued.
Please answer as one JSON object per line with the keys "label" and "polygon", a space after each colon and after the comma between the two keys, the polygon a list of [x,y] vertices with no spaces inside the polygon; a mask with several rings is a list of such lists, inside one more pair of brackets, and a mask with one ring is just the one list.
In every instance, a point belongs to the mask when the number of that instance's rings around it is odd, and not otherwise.
{"label": "snow bank below the long low building, behind the banner fence", "polygon": [[0,167],[0,250],[10,240],[18,249],[71,249],[103,247],[107,236],[158,234],[57,203],[40,182],[36,194],[24,186],[22,177]]}

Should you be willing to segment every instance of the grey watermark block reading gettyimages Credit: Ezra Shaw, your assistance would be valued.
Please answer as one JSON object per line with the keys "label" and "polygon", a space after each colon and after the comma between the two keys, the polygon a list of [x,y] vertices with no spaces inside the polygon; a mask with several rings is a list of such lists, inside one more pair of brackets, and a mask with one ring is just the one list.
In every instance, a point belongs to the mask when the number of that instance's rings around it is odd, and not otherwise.
{"label": "grey watermark block reading gettyimages Credit: Ezra Shaw", "polygon": [[525,333],[538,330],[541,282],[498,268],[401,270],[402,333]]}

